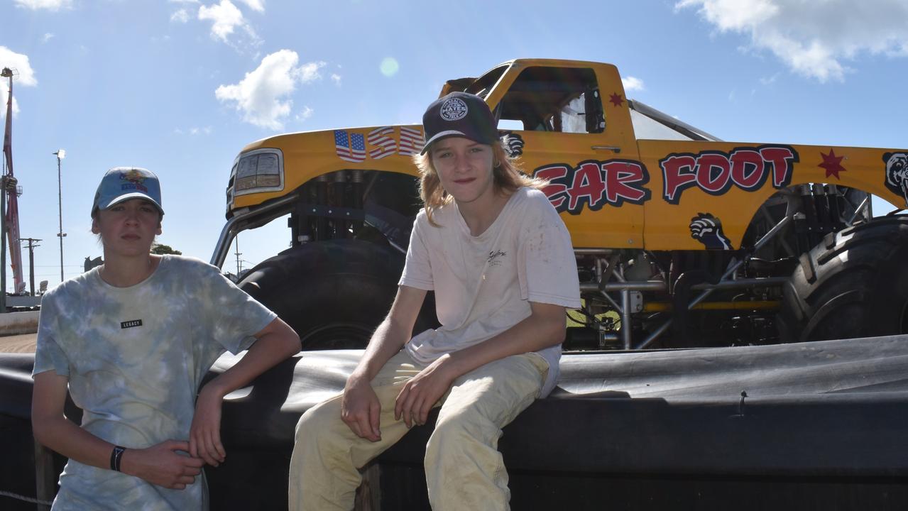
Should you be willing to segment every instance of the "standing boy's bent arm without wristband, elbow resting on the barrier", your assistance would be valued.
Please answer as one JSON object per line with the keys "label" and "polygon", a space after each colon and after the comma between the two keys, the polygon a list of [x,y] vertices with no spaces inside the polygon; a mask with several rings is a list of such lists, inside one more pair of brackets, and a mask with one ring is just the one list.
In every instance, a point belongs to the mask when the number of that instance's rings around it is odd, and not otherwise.
{"label": "standing boy's bent arm without wristband, elbow resting on the barrier", "polygon": [[224,396],[246,385],[283,359],[300,351],[300,337],[275,318],[255,334],[258,339],[231,369],[212,379],[199,391],[195,415],[189,430],[189,453],[202,457],[205,463],[217,467],[226,457],[221,443],[221,405]]}

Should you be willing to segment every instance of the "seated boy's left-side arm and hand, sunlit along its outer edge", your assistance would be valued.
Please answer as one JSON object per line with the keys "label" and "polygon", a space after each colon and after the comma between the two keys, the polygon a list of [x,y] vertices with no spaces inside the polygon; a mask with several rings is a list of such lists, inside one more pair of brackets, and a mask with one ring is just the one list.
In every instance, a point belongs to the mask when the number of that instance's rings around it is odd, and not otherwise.
{"label": "seated boy's left-side arm and hand, sunlit along its outer edge", "polygon": [[385,363],[410,340],[419,309],[426,299],[426,291],[400,286],[388,316],[372,334],[369,347],[362,355],[341,400],[341,420],[358,437],[373,442],[381,439],[379,398],[372,390],[371,381]]}

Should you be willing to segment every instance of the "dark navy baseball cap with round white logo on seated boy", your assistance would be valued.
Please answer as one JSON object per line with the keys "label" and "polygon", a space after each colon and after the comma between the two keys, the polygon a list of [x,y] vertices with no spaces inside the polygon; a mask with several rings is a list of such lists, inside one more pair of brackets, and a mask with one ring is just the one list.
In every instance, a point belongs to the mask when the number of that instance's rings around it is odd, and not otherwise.
{"label": "dark navy baseball cap with round white logo on seated boy", "polygon": [[498,126],[489,105],[471,93],[449,93],[429,104],[422,114],[422,128],[426,143],[421,154],[429,151],[432,142],[449,136],[488,144],[498,140]]}

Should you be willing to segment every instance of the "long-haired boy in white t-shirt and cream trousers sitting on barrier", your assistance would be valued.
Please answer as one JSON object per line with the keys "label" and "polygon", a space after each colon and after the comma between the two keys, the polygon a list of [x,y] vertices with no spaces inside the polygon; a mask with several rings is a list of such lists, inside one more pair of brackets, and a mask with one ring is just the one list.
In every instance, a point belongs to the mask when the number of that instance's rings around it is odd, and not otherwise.
{"label": "long-haired boy in white t-shirt and cream trousers sitting on barrier", "polygon": [[[555,386],[565,308],[580,306],[568,230],[518,172],[488,105],[450,93],[423,115],[419,212],[399,290],[343,395],[297,426],[290,506],[353,506],[358,469],[426,422],[436,511],[508,509],[501,428]],[[413,334],[426,291],[441,327]]]}

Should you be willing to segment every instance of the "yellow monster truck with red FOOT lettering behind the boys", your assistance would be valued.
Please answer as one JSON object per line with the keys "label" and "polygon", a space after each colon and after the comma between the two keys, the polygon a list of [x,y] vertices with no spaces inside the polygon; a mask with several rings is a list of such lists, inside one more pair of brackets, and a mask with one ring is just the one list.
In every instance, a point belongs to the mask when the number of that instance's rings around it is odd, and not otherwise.
{"label": "yellow monster truck with red FOOT lettering behind the boys", "polygon": [[[566,349],[731,346],[908,332],[908,150],[724,142],[627,99],[617,68],[514,60],[481,96],[568,225],[585,303]],[[427,98],[428,102],[428,98]],[[361,348],[419,209],[419,125],[289,133],[233,164],[233,237],[289,214],[291,248],[241,281],[307,349]],[[901,210],[896,210],[898,212]],[[435,321],[432,304],[417,328]]]}

